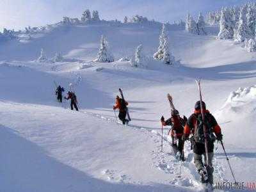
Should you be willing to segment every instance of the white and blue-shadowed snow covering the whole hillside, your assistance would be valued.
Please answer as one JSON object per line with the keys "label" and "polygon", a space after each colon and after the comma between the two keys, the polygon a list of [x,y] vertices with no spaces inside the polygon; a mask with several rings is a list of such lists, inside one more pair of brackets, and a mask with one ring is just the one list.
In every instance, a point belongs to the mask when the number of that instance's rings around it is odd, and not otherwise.
{"label": "white and blue-shadowed snow covering the whole hillside", "polygon": [[[0,191],[202,191],[190,143],[179,178],[180,162],[166,137],[169,127],[163,130],[161,152],[159,122],[162,115],[170,116],[167,93],[180,115],[193,113],[197,77],[203,79],[207,108],[222,128],[236,179],[255,180],[255,54],[217,40],[218,26],[207,27],[207,34],[214,33],[208,36],[168,29],[179,64],[159,65],[151,58],[147,68],[131,67],[125,59],[93,59],[102,34],[115,58],[129,58],[139,44],[152,57],[159,25],[99,22],[52,28],[31,35],[29,42],[0,46]],[[48,58],[61,52],[65,59],[37,62],[41,47]],[[66,92],[72,83],[79,112],[70,111],[69,101],[56,102],[54,81]],[[118,88],[129,102],[129,126],[116,124],[112,108]],[[214,168],[215,181],[232,182],[220,145]]]}

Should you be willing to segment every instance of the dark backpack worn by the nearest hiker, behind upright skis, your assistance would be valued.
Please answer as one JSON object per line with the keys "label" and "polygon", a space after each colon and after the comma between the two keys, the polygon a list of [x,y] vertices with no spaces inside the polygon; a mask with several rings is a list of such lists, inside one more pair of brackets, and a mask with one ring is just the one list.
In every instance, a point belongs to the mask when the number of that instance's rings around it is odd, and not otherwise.
{"label": "dark backpack worn by the nearest hiker, behind upright skis", "polygon": [[198,116],[195,115],[196,125],[194,128],[194,140],[196,143],[205,143],[204,137],[204,125],[207,131],[207,141],[214,141],[214,135],[211,125],[211,116],[209,113],[205,113],[205,120],[203,122],[202,114],[200,113]]}

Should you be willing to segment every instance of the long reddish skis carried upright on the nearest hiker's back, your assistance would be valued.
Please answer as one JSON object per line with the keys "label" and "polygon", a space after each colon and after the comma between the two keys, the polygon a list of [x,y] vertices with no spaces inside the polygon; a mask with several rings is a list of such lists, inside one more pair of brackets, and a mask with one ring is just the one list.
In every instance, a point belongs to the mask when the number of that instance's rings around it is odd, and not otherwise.
{"label": "long reddish skis carried upright on the nearest hiker's back", "polygon": [[[196,80],[196,84],[197,84],[198,90],[199,90],[202,121],[205,122],[205,114],[204,114],[204,108],[203,108],[203,102],[202,102],[202,92],[201,92],[201,86],[200,86],[200,79]],[[206,154],[206,166],[209,166],[207,127],[206,127],[205,124],[203,124],[203,126],[204,126],[204,147],[205,147],[205,154]]]}

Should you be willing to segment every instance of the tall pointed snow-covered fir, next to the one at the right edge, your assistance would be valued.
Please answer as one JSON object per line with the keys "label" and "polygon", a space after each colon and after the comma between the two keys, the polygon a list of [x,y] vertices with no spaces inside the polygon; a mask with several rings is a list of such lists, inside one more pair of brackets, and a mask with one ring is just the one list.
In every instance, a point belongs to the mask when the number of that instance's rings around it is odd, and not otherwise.
{"label": "tall pointed snow-covered fir, next to the one at the right edge", "polygon": [[250,38],[250,29],[246,23],[246,7],[241,6],[238,28],[234,35],[234,40],[236,42],[243,42],[246,38]]}

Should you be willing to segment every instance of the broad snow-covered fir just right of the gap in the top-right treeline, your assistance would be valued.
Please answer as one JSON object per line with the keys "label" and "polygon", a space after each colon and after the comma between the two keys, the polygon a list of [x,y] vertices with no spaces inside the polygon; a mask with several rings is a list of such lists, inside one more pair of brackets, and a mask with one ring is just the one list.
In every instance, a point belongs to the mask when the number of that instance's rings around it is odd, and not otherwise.
{"label": "broad snow-covered fir just right of the gap in the top-right treeline", "polygon": [[232,39],[234,37],[234,28],[232,24],[232,17],[227,8],[222,8],[220,18],[220,32],[218,38]]}

